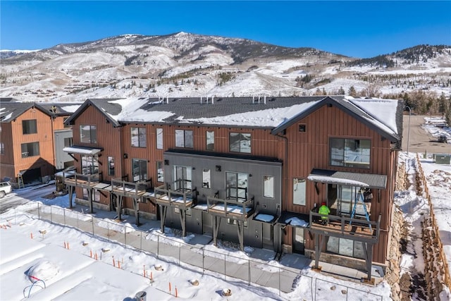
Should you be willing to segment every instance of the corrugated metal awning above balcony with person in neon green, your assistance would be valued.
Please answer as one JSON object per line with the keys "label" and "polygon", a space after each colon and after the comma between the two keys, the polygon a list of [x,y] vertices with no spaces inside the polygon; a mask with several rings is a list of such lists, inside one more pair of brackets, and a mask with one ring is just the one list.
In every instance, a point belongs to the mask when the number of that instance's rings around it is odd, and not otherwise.
{"label": "corrugated metal awning above balcony with person in neon green", "polygon": [[346,171],[313,169],[307,178],[319,183],[358,186],[362,188],[387,188],[387,176],[372,173],[350,173]]}

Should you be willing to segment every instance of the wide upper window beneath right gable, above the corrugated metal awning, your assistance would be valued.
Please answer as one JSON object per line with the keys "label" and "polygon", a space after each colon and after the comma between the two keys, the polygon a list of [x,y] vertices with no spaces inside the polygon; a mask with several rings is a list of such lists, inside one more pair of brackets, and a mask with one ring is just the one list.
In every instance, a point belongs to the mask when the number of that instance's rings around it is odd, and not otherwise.
{"label": "wide upper window beneath right gable, above the corrugated metal awning", "polygon": [[330,165],[369,168],[370,140],[330,138]]}

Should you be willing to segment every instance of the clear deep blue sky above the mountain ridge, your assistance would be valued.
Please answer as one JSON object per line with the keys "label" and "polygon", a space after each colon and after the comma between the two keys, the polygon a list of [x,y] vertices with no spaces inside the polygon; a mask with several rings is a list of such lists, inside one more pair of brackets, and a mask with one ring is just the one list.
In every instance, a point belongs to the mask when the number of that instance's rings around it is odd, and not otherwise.
{"label": "clear deep blue sky above the mountain ridge", "polygon": [[190,32],[368,58],[451,45],[451,1],[6,1],[0,49]]}

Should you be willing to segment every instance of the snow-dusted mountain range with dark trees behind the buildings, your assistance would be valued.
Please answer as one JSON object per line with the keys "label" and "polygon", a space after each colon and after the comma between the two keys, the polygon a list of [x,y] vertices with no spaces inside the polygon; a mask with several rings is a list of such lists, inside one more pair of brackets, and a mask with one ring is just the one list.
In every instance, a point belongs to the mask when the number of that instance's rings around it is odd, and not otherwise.
{"label": "snow-dusted mountain range with dark trees behind the buildings", "polygon": [[419,45],[358,59],[314,48],[194,35],[119,35],[0,54],[0,97],[451,95],[451,46]]}

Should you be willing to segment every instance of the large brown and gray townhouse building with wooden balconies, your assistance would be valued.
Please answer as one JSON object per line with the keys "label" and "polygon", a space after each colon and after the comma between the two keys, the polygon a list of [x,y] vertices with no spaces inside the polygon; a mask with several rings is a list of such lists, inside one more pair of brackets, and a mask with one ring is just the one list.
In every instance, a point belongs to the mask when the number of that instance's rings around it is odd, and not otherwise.
{"label": "large brown and gray townhouse building with wooden balconies", "polygon": [[77,168],[66,183],[75,202],[119,219],[371,271],[388,256],[402,108],[342,96],[88,99],[66,121]]}

